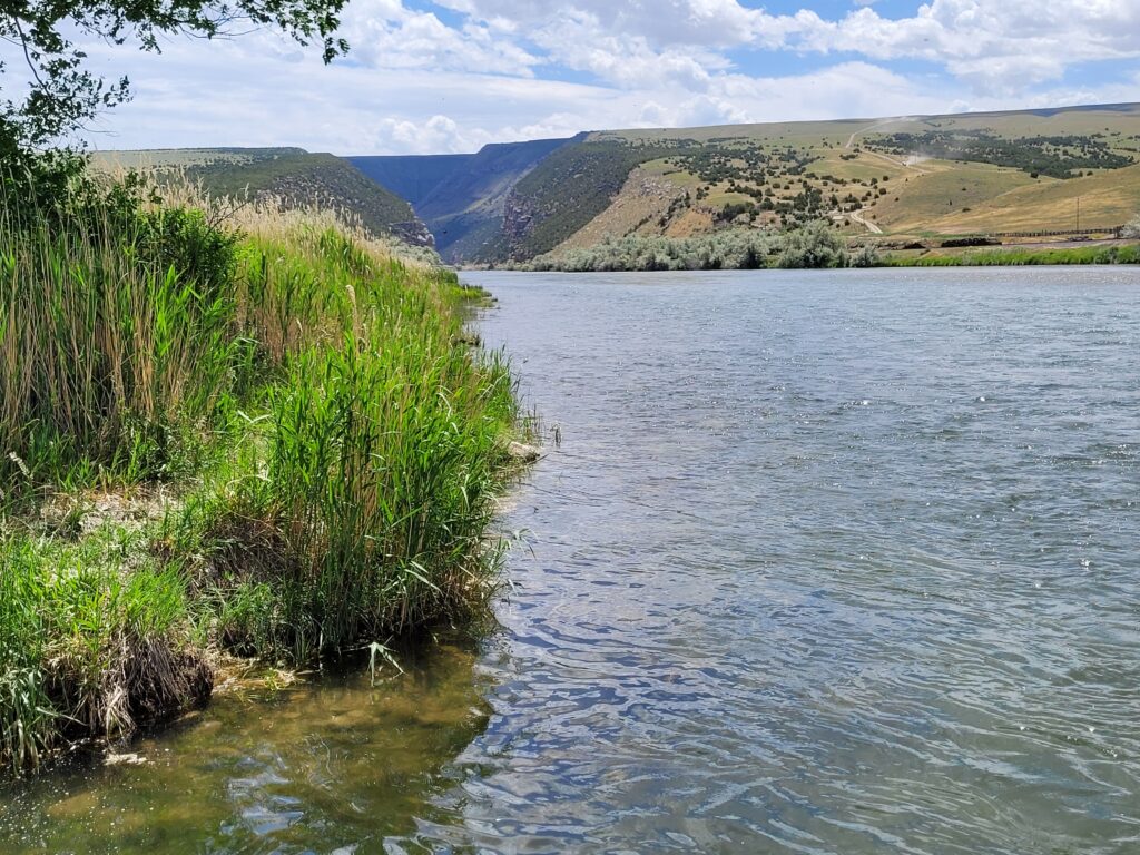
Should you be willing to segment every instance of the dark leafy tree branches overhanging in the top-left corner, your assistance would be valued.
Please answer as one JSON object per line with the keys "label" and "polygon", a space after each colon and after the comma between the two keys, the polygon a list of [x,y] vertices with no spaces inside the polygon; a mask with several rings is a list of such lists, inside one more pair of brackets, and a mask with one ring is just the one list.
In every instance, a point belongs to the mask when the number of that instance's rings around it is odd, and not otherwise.
{"label": "dark leafy tree branches overhanging in the top-left corner", "polygon": [[[128,98],[125,78],[108,83],[84,67],[83,40],[133,42],[157,52],[164,34],[213,39],[235,25],[275,26],[303,46],[319,43],[328,63],[348,50],[335,36],[345,2],[0,0],[0,38],[23,57],[30,76],[24,97],[11,97],[10,83],[0,95],[0,157],[5,163],[26,160],[22,155],[57,144],[100,109]],[[6,82],[11,73],[0,62]]]}

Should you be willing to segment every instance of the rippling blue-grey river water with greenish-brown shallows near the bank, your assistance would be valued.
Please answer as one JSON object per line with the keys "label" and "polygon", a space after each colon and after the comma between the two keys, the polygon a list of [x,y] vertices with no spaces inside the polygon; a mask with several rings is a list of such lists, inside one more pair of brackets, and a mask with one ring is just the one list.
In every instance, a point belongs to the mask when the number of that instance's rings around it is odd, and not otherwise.
{"label": "rippling blue-grey river water with greenish-brown shallows near the bank", "polygon": [[5,852],[1140,852],[1140,274],[467,277],[503,630],[0,790]]}

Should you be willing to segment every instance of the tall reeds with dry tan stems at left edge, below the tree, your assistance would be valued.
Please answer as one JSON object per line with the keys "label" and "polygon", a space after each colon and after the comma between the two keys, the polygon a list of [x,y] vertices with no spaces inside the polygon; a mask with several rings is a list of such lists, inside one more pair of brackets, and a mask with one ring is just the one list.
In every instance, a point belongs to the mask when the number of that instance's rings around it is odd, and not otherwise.
{"label": "tall reeds with dry tan stems at left edge, below the tree", "polygon": [[0,213],[0,478],[178,473],[230,370],[235,239],[187,209]]}

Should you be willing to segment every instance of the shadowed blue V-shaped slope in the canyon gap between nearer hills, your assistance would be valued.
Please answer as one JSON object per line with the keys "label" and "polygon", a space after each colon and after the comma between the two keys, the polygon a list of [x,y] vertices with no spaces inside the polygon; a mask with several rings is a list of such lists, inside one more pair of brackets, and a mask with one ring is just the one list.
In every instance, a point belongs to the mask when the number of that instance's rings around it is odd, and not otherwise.
{"label": "shadowed blue V-shaped slope in the canyon gap between nearer hills", "polygon": [[471,155],[359,156],[365,174],[397,189],[427,223],[449,261],[481,259],[497,246],[514,186],[569,139],[483,146]]}

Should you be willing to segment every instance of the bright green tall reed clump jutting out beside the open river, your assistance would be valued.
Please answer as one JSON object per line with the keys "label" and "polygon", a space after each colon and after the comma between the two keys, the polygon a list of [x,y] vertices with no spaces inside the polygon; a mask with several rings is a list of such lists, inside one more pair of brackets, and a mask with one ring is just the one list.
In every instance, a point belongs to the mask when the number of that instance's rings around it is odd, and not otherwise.
{"label": "bright green tall reed clump jutting out beside the open river", "polygon": [[271,241],[252,246],[259,282],[284,293],[270,337],[295,355],[251,431],[263,453],[184,527],[206,535],[202,584],[241,603],[215,632],[299,660],[462,618],[490,589],[483,538],[518,416],[505,360],[464,343],[450,275],[331,231],[293,242],[307,252],[287,261]]}

